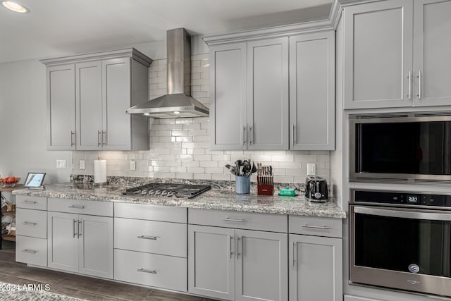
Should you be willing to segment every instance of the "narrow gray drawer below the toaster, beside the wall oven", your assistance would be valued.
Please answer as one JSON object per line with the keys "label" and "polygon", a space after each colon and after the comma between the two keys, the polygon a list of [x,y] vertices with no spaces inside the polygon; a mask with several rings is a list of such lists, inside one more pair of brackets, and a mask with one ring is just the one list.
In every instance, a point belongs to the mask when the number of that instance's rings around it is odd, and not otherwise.
{"label": "narrow gray drawer below the toaster, beside the wall oven", "polygon": [[316,216],[289,217],[290,233],[342,238],[342,219]]}

